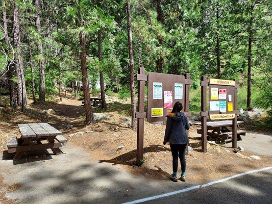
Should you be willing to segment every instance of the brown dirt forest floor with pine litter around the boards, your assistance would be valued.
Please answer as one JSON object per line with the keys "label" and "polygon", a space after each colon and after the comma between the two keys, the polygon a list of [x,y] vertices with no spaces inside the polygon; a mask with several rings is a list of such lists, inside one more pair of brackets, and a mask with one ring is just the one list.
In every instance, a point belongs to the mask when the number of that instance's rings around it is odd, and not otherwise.
{"label": "brown dirt forest floor with pine litter around the boards", "polygon": [[[119,103],[113,103],[117,100]],[[69,146],[83,148],[91,155],[91,162],[117,165],[124,171],[142,175],[146,179],[168,180],[172,172],[172,161],[169,145],[162,144],[165,125],[144,122],[144,163],[141,167],[137,167],[135,165],[137,133],[125,123],[125,119],[130,119],[130,101],[120,100],[117,97],[110,97],[110,101],[111,103],[107,101],[106,111],[100,108],[94,108],[93,111],[103,112],[111,117],[87,126],[83,122],[84,107],[81,106],[81,101],[73,99],[70,95],[62,101],[57,97],[46,103],[32,104],[30,101],[29,108],[24,113],[8,107],[0,107],[0,153],[7,150],[8,137],[19,137],[17,124],[48,122],[68,139],[66,149]],[[48,109],[58,111],[55,115],[41,113],[42,110]],[[65,129],[68,124],[73,125],[72,129]],[[69,137],[70,134],[79,131],[83,134]],[[261,133],[256,133],[255,136],[261,138]],[[261,160],[240,158],[232,148],[221,145],[208,145],[208,151],[204,153],[201,151],[199,137],[200,135],[196,134],[196,126],[191,126],[189,138],[193,151],[190,151],[186,158],[189,182],[207,182],[272,164],[269,156],[261,155]],[[246,136],[242,137],[246,140]],[[118,149],[120,145],[124,147]],[[256,155],[248,149],[241,153],[244,156]],[[0,176],[0,187],[1,183]]]}

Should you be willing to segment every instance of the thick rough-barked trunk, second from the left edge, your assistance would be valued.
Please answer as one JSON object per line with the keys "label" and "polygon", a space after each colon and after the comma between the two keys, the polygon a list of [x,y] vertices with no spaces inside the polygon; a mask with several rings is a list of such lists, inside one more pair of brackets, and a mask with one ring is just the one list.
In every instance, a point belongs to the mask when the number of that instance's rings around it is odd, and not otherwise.
{"label": "thick rough-barked trunk, second from the left edge", "polygon": [[19,27],[19,11],[17,4],[13,2],[13,38],[14,38],[14,63],[16,68],[16,75],[18,79],[18,105],[21,106],[22,111],[27,107],[27,91],[26,84],[24,82],[23,64],[21,56],[21,39],[20,39],[20,27]]}

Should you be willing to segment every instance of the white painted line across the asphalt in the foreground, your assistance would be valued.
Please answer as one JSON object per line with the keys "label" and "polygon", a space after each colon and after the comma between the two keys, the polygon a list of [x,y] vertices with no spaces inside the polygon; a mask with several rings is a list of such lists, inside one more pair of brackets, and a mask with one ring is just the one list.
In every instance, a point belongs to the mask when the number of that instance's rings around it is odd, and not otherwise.
{"label": "white painted line across the asphalt in the foreground", "polygon": [[218,184],[218,183],[221,183],[221,182],[226,182],[228,180],[234,179],[234,178],[239,177],[239,176],[243,176],[243,175],[247,175],[247,174],[251,174],[251,173],[256,173],[256,172],[259,172],[259,171],[265,171],[265,170],[268,170],[268,169],[272,169],[272,166],[261,168],[261,169],[256,169],[256,170],[252,170],[252,171],[247,171],[247,172],[244,172],[244,173],[239,173],[239,174],[227,177],[225,179],[220,179],[220,180],[217,180],[217,181],[214,181],[214,182],[209,182],[209,183],[206,183],[206,184],[203,184],[203,185],[192,186],[192,187],[189,187],[189,188],[185,188],[185,189],[170,192],[170,193],[164,193],[164,194],[161,194],[161,195],[146,197],[146,198],[142,198],[142,199],[138,199],[138,200],[133,200],[133,201],[130,201],[130,202],[124,202],[122,204],[135,204],[135,203],[145,202],[145,201],[149,201],[149,200],[155,200],[155,199],[158,199],[158,198],[167,197],[169,195],[184,193],[184,192],[191,191],[191,190],[194,190],[194,189],[204,188],[204,187],[211,186],[211,185],[214,185],[214,184]]}

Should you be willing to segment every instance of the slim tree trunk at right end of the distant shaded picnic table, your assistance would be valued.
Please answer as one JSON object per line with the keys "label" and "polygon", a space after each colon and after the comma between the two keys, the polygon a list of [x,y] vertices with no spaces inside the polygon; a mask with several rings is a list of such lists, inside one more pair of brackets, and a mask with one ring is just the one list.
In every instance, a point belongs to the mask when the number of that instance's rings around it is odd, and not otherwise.
{"label": "slim tree trunk at right end of the distant shaded picnic table", "polygon": [[[98,30],[98,60],[102,62],[102,29]],[[100,69],[100,92],[101,92],[101,108],[107,108],[106,98],[105,98],[105,86],[104,86],[104,77],[103,72]]]}

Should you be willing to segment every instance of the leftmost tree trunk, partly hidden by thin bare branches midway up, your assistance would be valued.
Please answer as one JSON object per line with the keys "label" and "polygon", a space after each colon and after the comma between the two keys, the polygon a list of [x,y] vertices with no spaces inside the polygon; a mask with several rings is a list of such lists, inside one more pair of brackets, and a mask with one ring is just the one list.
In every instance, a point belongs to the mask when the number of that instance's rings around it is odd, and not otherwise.
{"label": "leftmost tree trunk, partly hidden by thin bare branches midway up", "polygon": [[[7,22],[5,0],[3,0],[3,2],[2,2],[2,8],[3,8],[4,40],[7,44],[7,46],[9,46],[8,22]],[[14,84],[12,82],[13,69],[14,69],[13,66],[10,66],[10,65],[7,66],[7,77],[8,77],[9,91],[10,91],[10,106],[13,108],[17,108],[16,96],[15,96],[15,91],[14,91]]]}

